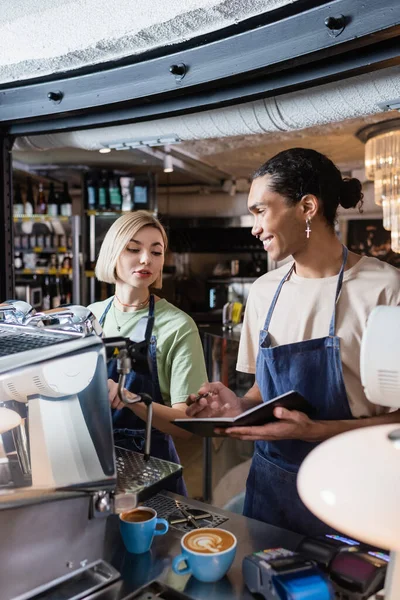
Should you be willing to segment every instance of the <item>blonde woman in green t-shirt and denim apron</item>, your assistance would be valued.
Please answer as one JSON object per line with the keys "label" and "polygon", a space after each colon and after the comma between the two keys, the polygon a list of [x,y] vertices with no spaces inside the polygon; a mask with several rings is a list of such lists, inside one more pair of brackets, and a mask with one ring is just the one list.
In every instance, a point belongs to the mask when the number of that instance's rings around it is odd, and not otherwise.
{"label": "blonde woman in green t-shirt and denim apron", "polygon": [[[106,337],[130,337],[141,317],[154,315],[149,353],[152,375],[132,372],[127,377],[127,394],[146,392],[153,398],[151,454],[179,462],[170,434],[187,437],[170,423],[185,416],[185,400],[197,390],[207,374],[203,349],[194,321],[180,309],[152,292],[161,288],[167,236],[151,213],[140,210],[125,214],[110,227],[96,264],[99,281],[115,284],[115,294],[89,308]],[[117,395],[116,361],[109,366],[109,399],[113,410],[116,440],[133,450],[142,450],[146,408],[143,403],[125,406]],[[167,487],[167,486],[166,486]],[[168,488],[185,494],[182,478]]]}

